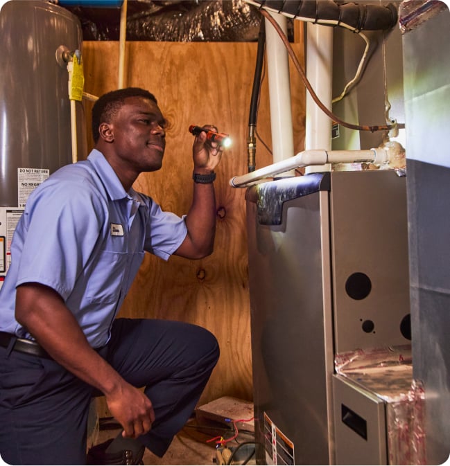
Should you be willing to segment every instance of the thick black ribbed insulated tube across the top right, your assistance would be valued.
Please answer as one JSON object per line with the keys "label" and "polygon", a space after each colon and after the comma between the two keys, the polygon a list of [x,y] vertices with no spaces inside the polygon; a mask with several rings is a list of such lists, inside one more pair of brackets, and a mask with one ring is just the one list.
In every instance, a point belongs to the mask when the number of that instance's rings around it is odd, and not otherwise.
{"label": "thick black ribbed insulated tube across the top right", "polygon": [[271,10],[293,19],[324,26],[343,26],[361,30],[388,30],[397,24],[397,8],[360,3],[337,3],[332,0],[246,0],[259,8]]}

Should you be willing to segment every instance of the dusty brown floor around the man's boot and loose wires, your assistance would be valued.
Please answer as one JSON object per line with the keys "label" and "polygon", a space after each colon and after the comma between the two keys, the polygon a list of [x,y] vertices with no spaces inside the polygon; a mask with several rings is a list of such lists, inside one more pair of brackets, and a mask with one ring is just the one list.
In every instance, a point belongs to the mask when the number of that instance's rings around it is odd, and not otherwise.
{"label": "dusty brown floor around the man's boot and loose wires", "polygon": [[[106,427],[104,429],[103,427]],[[225,431],[223,427],[199,426],[196,418],[191,418],[185,427],[173,439],[171,446],[163,458],[155,456],[151,451],[146,449],[144,454],[144,465],[216,465],[216,443],[208,442],[216,436],[231,438],[233,432]],[[109,438],[115,438],[121,429],[116,429],[114,424],[107,425],[105,422],[100,423],[100,430],[96,444],[105,442]],[[236,440],[227,442],[230,449],[235,449],[241,442],[251,442],[254,439],[252,433],[240,432]],[[250,445],[251,446],[251,445]],[[243,464],[243,461],[233,461],[233,465]],[[254,458],[251,458],[248,465],[256,464]]]}

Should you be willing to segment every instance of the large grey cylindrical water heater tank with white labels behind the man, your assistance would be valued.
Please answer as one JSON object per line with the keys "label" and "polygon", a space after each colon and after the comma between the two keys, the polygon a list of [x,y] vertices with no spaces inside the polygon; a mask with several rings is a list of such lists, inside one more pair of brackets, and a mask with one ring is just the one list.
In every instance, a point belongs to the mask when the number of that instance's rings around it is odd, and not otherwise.
{"label": "large grey cylindrical water heater tank with white labels behind the man", "polygon": [[[1,8],[0,286],[28,195],[72,161],[69,76],[58,51],[81,50],[82,40],[78,18],[48,1],[12,0]],[[77,114],[85,152],[83,112]]]}

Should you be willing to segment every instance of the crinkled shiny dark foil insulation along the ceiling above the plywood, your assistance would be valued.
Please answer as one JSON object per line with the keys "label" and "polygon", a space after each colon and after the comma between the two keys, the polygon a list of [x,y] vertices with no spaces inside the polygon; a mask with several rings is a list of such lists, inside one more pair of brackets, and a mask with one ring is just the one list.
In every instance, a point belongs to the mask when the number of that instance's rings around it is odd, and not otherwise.
{"label": "crinkled shiny dark foil insulation along the ceiling above the plywood", "polygon": [[[67,7],[80,18],[83,38],[119,40],[120,9],[83,4]],[[126,37],[128,42],[252,42],[260,21],[257,8],[244,0],[130,0]]]}

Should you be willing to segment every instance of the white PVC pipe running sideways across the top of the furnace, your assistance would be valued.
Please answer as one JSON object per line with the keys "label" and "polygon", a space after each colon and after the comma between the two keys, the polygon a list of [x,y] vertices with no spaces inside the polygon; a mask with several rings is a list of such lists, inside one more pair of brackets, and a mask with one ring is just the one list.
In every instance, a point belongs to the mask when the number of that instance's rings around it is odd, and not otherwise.
{"label": "white PVC pipe running sideways across the top of the furnace", "polygon": [[[252,184],[259,183],[262,179],[272,178],[279,173],[295,168],[307,167],[309,165],[323,166],[327,163],[361,163],[371,162],[375,164],[386,163],[390,159],[388,150],[377,147],[369,150],[304,150],[297,155],[272,163],[266,167],[259,168],[241,177],[230,179],[233,188],[246,188]],[[323,171],[323,170],[321,170]]]}

